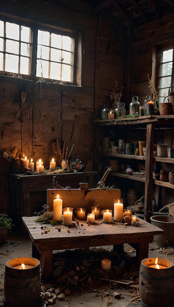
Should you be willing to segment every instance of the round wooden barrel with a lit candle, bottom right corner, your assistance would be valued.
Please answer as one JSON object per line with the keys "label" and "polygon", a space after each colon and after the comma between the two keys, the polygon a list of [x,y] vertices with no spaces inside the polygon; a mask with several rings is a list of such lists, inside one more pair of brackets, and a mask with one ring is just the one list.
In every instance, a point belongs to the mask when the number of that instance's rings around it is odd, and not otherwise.
{"label": "round wooden barrel with a lit candle, bottom right corner", "polygon": [[174,263],[173,261],[157,258],[146,258],[141,261],[139,271],[139,293],[142,307],[173,307],[174,306]]}

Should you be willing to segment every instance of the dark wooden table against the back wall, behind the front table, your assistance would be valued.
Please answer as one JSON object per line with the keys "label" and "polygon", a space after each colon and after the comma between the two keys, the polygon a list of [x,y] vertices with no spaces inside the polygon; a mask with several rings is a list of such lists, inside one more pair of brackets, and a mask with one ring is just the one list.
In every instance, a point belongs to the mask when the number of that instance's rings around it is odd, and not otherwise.
{"label": "dark wooden table against the back wall, behind the front table", "polygon": [[52,188],[54,176],[55,181],[63,187],[79,188],[80,182],[87,182],[89,188],[93,188],[94,176],[97,175],[98,171],[36,175],[7,174],[9,216],[14,222],[21,222],[22,216],[33,216],[34,212],[43,209],[43,205],[46,204],[46,191]]}

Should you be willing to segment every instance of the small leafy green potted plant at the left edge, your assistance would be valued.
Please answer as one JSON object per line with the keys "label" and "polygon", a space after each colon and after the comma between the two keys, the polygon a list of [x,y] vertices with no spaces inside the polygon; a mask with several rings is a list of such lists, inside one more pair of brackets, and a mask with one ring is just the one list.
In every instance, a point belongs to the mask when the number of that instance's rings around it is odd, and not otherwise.
{"label": "small leafy green potted plant at the left edge", "polygon": [[6,241],[7,233],[11,231],[13,224],[12,219],[5,213],[0,213],[0,243]]}

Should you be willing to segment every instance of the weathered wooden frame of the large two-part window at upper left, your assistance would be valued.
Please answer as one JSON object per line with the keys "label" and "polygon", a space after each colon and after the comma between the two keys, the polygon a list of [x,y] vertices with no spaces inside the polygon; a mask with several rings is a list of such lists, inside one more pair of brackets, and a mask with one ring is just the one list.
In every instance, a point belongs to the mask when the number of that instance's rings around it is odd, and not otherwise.
{"label": "weathered wooden frame of the large two-part window at upper left", "polygon": [[[6,71],[0,71],[0,76],[7,76],[7,77],[22,77],[27,78],[33,81],[42,81],[42,83],[49,83],[49,84],[57,84],[57,85],[65,85],[65,86],[75,86],[75,87],[82,87],[82,66],[83,66],[83,31],[81,28],[78,29],[68,29],[68,28],[62,28],[59,26],[53,26],[53,25],[47,25],[43,24],[37,21],[26,21],[25,19],[19,19],[17,18],[10,18],[10,17],[4,17],[0,14],[0,19],[4,22],[11,22],[14,24],[18,24],[20,26],[28,26],[31,28],[31,57],[30,57],[30,66],[29,66],[29,75],[24,74],[17,74],[17,73],[11,73]],[[73,59],[73,81],[62,81],[62,80],[56,80],[56,79],[48,79],[48,78],[42,78],[42,77],[36,77],[36,65],[37,65],[37,32],[38,29],[45,30],[51,33],[62,35],[69,35],[72,36],[75,39],[74,43],[74,59]]]}

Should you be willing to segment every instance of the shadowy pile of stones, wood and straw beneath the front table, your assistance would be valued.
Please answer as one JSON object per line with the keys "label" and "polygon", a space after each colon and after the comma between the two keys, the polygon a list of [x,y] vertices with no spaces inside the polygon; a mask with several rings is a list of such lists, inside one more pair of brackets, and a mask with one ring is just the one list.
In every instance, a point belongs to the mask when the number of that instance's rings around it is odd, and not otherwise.
{"label": "shadowy pile of stones, wood and straw beneath the front table", "polygon": [[[109,258],[109,271],[101,269],[101,260]],[[125,298],[123,289],[129,293],[128,304],[131,301],[140,302],[138,281],[139,267],[134,257],[118,256],[117,251],[100,250],[65,250],[53,254],[53,275],[48,283],[41,285],[41,301],[43,306],[54,305],[56,302],[71,300],[71,294],[92,293],[101,300]],[[112,292],[112,294],[111,294]]]}

